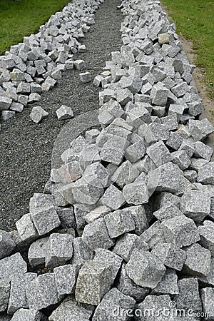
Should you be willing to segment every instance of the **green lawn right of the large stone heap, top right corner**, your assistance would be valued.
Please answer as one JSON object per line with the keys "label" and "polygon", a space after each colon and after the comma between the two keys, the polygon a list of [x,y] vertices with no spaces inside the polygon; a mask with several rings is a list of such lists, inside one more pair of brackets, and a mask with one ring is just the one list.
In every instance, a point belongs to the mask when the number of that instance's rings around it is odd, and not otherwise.
{"label": "green lawn right of the large stone heap, top right corner", "polygon": [[214,98],[214,1],[161,0],[177,25],[177,33],[193,42],[196,64],[205,68],[210,96]]}

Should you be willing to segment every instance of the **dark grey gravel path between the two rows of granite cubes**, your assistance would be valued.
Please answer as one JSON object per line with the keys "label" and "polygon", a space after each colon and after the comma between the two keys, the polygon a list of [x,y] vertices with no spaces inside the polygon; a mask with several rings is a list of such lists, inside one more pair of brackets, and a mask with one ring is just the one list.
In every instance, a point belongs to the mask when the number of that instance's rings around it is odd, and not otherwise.
{"label": "dark grey gravel path between the two rows of granite cubes", "polygon": [[[83,39],[86,53],[79,54],[88,71],[101,73],[111,51],[121,47],[122,15],[116,6],[120,0],[106,0],[96,11],[96,24]],[[77,57],[76,57],[77,58]],[[26,108],[15,120],[1,124],[0,132],[0,229],[11,230],[16,220],[29,211],[29,198],[41,193],[51,170],[54,141],[68,121],[59,122],[56,109],[71,106],[74,116],[98,108],[98,91],[92,83],[81,84],[77,71],[63,73],[61,81],[50,93],[44,94],[35,106],[49,112],[44,122],[36,125]]]}

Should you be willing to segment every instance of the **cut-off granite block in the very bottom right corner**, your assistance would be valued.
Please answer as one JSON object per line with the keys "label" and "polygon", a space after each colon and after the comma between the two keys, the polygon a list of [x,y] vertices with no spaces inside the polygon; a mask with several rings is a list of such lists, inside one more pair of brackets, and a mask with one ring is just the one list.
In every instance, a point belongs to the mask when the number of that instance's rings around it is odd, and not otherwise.
{"label": "cut-off granite block in the very bottom right corner", "polygon": [[203,304],[203,312],[205,320],[211,321],[214,318],[214,289],[205,287],[200,290],[201,300]]}

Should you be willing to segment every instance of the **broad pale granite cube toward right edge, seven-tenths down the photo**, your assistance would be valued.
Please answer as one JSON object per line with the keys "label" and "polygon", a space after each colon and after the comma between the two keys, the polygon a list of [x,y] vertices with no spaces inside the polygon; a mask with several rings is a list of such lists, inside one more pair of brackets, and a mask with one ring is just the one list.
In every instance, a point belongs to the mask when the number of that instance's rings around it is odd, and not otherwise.
{"label": "broad pale granite cube toward right edge, seven-tenths down the photo", "polygon": [[178,248],[191,245],[200,240],[194,221],[185,215],[168,218],[161,223],[165,240],[177,245]]}

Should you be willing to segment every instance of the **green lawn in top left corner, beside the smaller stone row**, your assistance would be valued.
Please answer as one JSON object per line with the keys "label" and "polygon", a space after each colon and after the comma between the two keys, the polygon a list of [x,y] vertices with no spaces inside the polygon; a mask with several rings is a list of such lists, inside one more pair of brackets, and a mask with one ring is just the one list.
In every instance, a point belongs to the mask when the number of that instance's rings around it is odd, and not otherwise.
{"label": "green lawn in top left corner, beside the smaller stone row", "polygon": [[0,54],[36,33],[68,0],[0,0]]}

